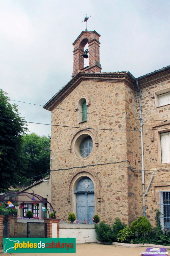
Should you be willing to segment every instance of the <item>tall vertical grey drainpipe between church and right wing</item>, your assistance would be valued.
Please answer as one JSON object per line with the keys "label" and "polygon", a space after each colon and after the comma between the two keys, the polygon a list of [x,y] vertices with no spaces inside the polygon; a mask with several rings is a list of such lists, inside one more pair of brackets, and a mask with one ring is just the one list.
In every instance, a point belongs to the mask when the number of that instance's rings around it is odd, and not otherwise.
{"label": "tall vertical grey drainpipe between church and right wing", "polygon": [[139,92],[139,106],[140,106],[140,134],[141,134],[141,153],[142,153],[142,191],[143,191],[143,215],[145,216],[145,192],[144,192],[144,147],[143,147],[143,121],[142,121],[142,105],[141,105],[141,94],[140,94],[140,89],[138,85],[138,81],[136,80],[137,83],[137,89]]}

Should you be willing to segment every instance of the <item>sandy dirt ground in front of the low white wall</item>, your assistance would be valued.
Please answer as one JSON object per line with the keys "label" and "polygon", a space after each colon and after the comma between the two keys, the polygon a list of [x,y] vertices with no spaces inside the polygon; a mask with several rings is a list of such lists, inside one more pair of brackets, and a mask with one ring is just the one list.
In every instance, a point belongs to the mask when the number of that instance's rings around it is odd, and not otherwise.
{"label": "sandy dirt ground in front of the low white wall", "polygon": [[[30,253],[30,256],[137,256],[147,247],[124,247],[105,244],[76,244],[76,253]],[[2,253],[1,255],[21,256],[21,253]],[[28,256],[28,253],[22,253]]]}

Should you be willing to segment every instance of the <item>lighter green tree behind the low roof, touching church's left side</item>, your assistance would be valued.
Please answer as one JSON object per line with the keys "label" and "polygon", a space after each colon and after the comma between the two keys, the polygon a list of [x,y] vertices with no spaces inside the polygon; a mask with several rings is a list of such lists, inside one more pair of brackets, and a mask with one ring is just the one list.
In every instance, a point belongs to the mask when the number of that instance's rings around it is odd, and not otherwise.
{"label": "lighter green tree behind the low roof, touching church's left side", "polygon": [[[23,176],[32,178],[48,172],[50,169],[50,138],[39,136],[36,133],[24,134],[22,136],[21,156],[25,160]],[[33,180],[40,180],[43,176],[35,177]],[[33,181],[31,180],[31,181]],[[25,180],[21,184],[27,185]]]}

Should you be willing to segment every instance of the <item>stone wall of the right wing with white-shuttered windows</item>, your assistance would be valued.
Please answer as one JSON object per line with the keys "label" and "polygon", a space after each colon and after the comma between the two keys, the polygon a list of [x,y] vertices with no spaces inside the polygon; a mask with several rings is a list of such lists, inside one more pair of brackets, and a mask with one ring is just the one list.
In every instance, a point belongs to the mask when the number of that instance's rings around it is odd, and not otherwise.
{"label": "stone wall of the right wing with white-shuttered windows", "polygon": [[[160,80],[160,82],[158,82]],[[154,170],[154,178],[152,180],[151,187],[145,197],[146,204],[146,217],[151,221],[152,225],[155,225],[155,211],[158,208],[157,195],[158,191],[170,191],[170,186],[167,186],[165,182],[169,181],[169,172],[161,171],[169,170],[170,164],[161,164],[161,147],[160,147],[160,132],[170,131],[170,122],[164,122],[164,120],[170,120],[170,105],[157,107],[156,92],[163,89],[170,88],[170,77],[165,79],[164,76],[153,76],[152,79],[144,79],[141,86],[141,103],[142,103],[142,116],[143,116],[143,139],[144,139],[144,168],[145,168],[145,190],[148,186],[151,178],[151,173]],[[136,97],[137,99],[137,97]],[[136,104],[136,110],[139,109],[138,100]],[[139,118],[139,111],[137,117]],[[139,146],[140,147],[140,146]],[[139,165],[139,169],[141,166]],[[155,184],[159,183],[159,186]],[[155,194],[155,197],[153,195]],[[140,195],[139,195],[140,196]]]}

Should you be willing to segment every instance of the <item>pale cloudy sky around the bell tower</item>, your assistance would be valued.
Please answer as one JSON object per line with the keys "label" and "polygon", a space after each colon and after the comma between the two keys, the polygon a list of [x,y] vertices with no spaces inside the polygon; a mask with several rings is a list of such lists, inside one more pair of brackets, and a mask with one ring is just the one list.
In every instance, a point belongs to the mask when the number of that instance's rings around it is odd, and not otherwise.
{"label": "pale cloudy sky around the bell tower", "polygon": [[169,13],[169,0],[0,0],[0,88],[26,121],[51,124],[51,112],[17,101],[44,105],[69,82],[86,14],[87,29],[101,35],[101,71],[139,77],[170,65]]}

